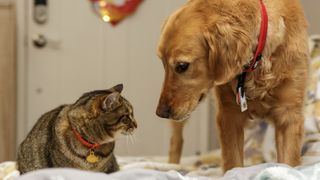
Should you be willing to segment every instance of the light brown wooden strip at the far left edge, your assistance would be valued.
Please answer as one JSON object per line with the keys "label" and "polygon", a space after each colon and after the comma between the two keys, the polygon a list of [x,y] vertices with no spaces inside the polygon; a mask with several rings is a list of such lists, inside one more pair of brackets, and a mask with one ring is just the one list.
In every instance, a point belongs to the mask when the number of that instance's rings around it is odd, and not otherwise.
{"label": "light brown wooden strip at the far left edge", "polygon": [[14,160],[16,149],[15,6],[0,2],[0,162]]}

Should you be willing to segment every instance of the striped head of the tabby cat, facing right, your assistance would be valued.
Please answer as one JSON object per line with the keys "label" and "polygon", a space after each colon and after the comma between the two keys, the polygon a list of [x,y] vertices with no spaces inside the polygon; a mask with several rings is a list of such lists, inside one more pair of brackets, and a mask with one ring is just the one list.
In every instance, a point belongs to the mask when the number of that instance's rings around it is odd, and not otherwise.
{"label": "striped head of the tabby cat, facing right", "polygon": [[71,128],[91,142],[114,141],[119,134],[131,134],[137,123],[129,101],[120,94],[123,85],[83,94],[68,112]]}

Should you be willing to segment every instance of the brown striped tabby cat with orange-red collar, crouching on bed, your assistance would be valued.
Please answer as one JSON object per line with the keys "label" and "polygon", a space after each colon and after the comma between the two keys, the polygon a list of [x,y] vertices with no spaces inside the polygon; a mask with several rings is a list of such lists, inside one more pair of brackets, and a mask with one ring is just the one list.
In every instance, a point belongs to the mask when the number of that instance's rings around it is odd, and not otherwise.
{"label": "brown striped tabby cat with orange-red collar, crouching on bed", "polygon": [[137,123],[122,84],[83,94],[74,104],[45,113],[19,146],[21,173],[71,167],[111,173],[119,170],[115,137],[131,134]]}

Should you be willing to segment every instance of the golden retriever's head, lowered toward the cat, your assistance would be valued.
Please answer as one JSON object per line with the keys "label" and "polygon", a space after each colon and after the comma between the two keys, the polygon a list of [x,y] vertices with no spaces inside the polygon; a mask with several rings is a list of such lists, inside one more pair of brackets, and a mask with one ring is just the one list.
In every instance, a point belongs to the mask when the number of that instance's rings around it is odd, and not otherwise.
{"label": "golden retriever's head, lowered toward the cat", "polygon": [[214,85],[242,71],[250,44],[234,17],[219,14],[207,1],[189,1],[162,28],[158,56],[165,79],[156,114],[186,119]]}

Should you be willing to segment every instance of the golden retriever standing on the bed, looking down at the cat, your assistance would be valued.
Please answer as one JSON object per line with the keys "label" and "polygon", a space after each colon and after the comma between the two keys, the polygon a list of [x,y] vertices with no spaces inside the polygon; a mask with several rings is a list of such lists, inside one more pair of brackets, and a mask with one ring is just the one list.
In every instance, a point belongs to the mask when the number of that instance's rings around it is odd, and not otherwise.
{"label": "golden retriever standing on the bed, looking down at the cat", "polygon": [[259,0],[189,0],[165,22],[158,46],[165,78],[156,114],[172,119],[170,162],[178,163],[183,124],[211,90],[223,169],[243,166],[248,120],[275,126],[277,160],[300,164],[308,69],[306,20],[298,0],[264,0],[268,32],[262,60],[247,73],[248,109],[236,102],[237,76],[249,64],[260,34]]}

